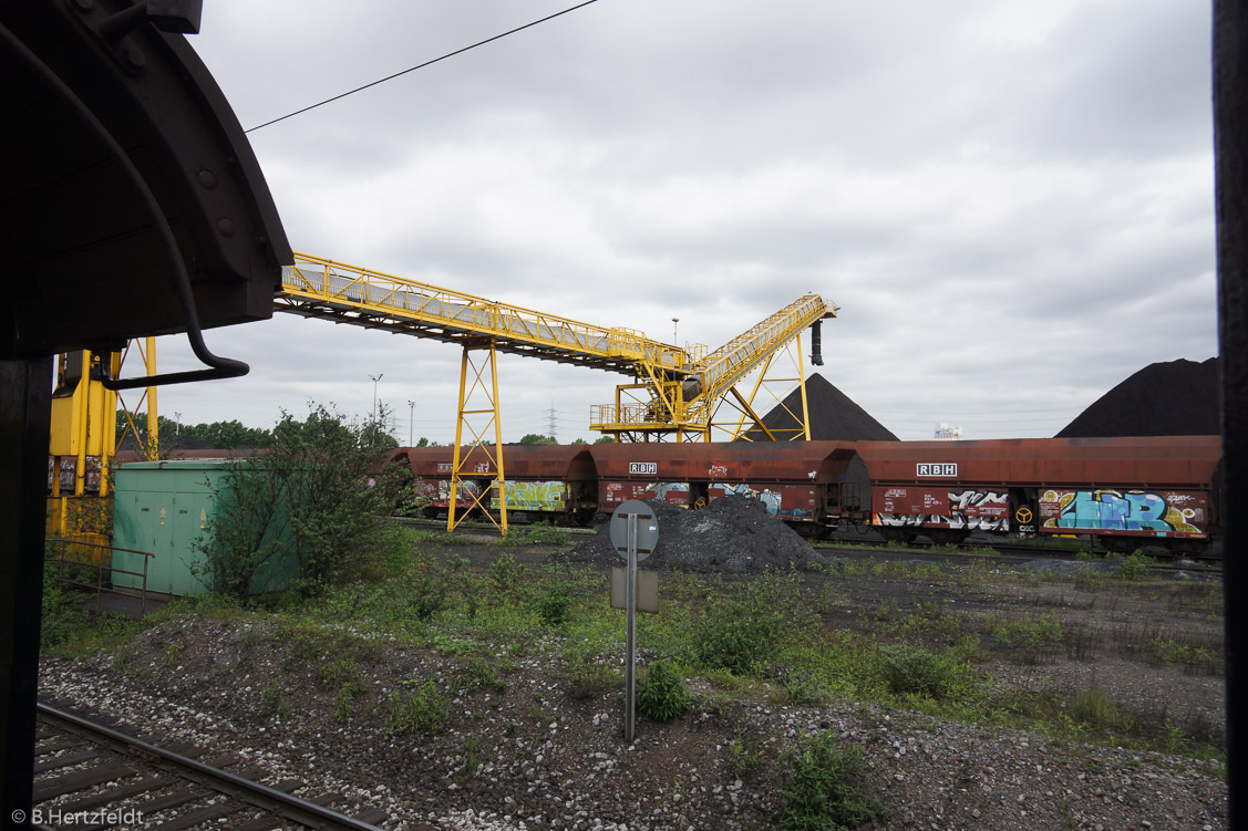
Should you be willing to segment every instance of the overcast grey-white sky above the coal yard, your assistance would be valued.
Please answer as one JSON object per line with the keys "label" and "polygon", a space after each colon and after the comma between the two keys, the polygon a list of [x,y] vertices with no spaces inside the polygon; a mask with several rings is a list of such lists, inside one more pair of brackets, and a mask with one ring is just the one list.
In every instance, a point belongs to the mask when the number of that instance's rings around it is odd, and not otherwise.
{"label": "overcast grey-white sky above the coal yard", "polygon": [[[212,0],[190,42],[250,129],[572,5]],[[297,251],[711,349],[817,292],[817,371],[899,437],[1052,435],[1216,354],[1209,14],[599,0],[250,136]],[[251,374],[163,415],[364,414],[382,374],[401,443],[453,437],[458,347],[286,314],[206,337]],[[499,378],[504,440],[553,413],[562,442],[626,381]]]}

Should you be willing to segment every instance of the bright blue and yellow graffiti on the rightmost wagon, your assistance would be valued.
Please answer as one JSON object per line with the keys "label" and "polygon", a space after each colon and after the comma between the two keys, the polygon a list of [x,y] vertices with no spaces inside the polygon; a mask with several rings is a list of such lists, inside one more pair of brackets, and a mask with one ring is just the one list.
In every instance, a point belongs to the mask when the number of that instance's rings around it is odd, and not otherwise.
{"label": "bright blue and yellow graffiti on the rightmost wagon", "polygon": [[1046,490],[1040,498],[1045,528],[1204,534],[1203,493],[1171,490]]}

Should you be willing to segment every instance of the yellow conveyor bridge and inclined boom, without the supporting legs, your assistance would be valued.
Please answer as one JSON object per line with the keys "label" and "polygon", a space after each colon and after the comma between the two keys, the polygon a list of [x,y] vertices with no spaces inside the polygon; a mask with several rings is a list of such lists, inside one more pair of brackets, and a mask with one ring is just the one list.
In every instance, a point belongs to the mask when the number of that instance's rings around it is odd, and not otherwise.
{"label": "yellow conveyor bridge and inclined boom, without the supporting legs", "polygon": [[618,392],[614,407],[594,408],[590,427],[646,440],[663,434],[710,440],[713,413],[739,381],[805,328],[836,316],[835,306],[806,294],[708,356],[700,344],[681,348],[634,329],[582,323],[300,252],[282,270],[275,309],[461,343],[466,352],[488,339],[492,356],[527,354],[631,376],[639,383],[620,389],[645,388],[649,401],[625,406]]}

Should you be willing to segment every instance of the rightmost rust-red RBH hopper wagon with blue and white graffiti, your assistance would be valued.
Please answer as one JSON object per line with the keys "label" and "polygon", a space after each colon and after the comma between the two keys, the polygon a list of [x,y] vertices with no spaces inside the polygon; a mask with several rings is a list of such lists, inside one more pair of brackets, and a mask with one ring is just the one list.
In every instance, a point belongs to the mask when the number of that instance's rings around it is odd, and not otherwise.
{"label": "rightmost rust-red RBH hopper wagon with blue and white graffiti", "polygon": [[1201,553],[1218,528],[1217,435],[859,442],[871,524],[892,539],[972,530],[1090,535]]}

